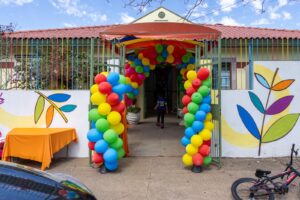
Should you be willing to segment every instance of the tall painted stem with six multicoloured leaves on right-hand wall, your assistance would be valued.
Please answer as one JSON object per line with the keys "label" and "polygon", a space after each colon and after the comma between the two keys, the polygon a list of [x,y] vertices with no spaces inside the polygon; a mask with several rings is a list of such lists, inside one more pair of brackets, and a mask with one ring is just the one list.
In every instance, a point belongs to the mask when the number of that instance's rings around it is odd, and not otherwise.
{"label": "tall painted stem with six multicoloured leaves on right-hand wall", "polygon": [[258,156],[261,154],[262,143],[274,142],[286,136],[294,128],[300,115],[299,113],[284,115],[271,124],[267,130],[265,130],[266,117],[268,115],[273,116],[283,112],[291,104],[294,98],[293,95],[284,96],[275,100],[273,103],[271,103],[271,105],[269,105],[272,92],[286,90],[295,81],[294,79],[286,79],[275,83],[275,78],[278,74],[278,71],[279,69],[277,68],[272,77],[271,83],[269,83],[261,74],[255,73],[255,78],[258,83],[268,90],[265,106],[254,92],[248,92],[254,107],[263,115],[260,129],[258,128],[252,115],[244,107],[237,105],[237,110],[243,124],[252,134],[252,136],[259,141]]}

